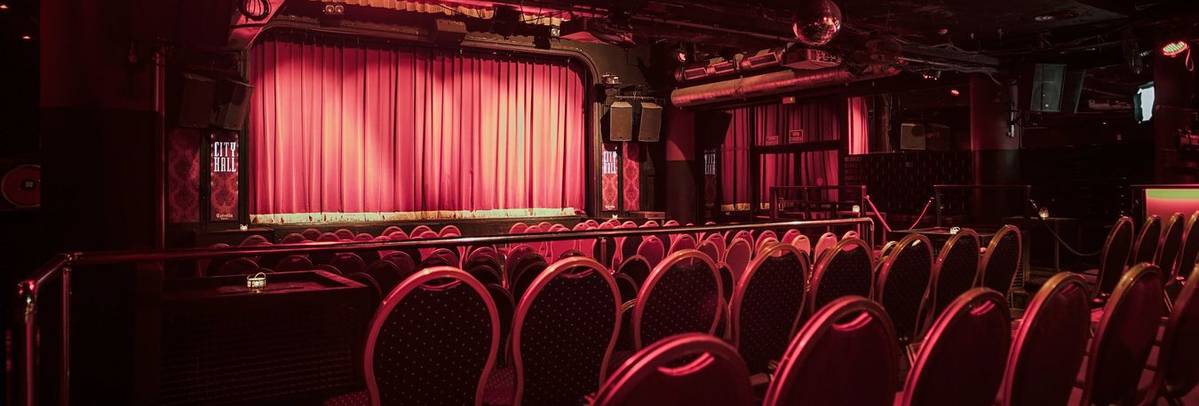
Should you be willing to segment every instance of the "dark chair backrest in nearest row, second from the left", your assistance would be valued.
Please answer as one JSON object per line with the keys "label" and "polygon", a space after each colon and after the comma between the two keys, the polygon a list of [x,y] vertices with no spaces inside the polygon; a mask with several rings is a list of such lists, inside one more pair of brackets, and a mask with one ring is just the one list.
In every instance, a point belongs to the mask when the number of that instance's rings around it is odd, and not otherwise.
{"label": "dark chair backrest in nearest row, second from the left", "polygon": [[763,405],[891,405],[898,359],[886,311],[864,297],[838,298],[790,340]]}

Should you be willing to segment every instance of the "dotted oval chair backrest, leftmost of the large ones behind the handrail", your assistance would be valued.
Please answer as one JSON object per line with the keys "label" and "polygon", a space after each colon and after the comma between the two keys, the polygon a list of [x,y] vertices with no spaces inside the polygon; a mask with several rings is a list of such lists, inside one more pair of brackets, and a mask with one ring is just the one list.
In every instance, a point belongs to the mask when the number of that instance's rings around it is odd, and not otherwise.
{"label": "dotted oval chair backrest, leftmost of the large ones behind the handrail", "polygon": [[482,405],[500,346],[490,295],[452,267],[408,278],[375,311],[363,366],[372,405]]}

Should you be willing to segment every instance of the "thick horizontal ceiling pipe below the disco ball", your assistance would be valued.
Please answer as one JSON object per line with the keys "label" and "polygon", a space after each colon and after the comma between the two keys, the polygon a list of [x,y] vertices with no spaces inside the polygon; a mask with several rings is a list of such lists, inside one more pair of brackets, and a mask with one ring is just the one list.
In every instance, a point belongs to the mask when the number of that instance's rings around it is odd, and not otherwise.
{"label": "thick horizontal ceiling pipe below the disco ball", "polygon": [[887,69],[882,74],[856,75],[848,68],[818,71],[779,71],[753,77],[679,87],[670,92],[675,107],[687,108],[703,104],[740,101],[753,97],[779,95],[799,90],[844,85],[851,81],[876,79],[898,73]]}

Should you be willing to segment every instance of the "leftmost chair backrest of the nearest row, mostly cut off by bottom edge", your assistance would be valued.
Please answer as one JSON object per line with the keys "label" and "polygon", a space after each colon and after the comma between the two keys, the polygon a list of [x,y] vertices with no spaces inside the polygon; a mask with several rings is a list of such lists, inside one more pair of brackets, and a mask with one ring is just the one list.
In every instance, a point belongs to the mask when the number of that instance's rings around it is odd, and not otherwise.
{"label": "leftmost chair backrest of the nearest row, mostly cut off by bottom edge", "polygon": [[592,406],[748,406],[749,372],[718,338],[680,334],[645,347],[604,381]]}

